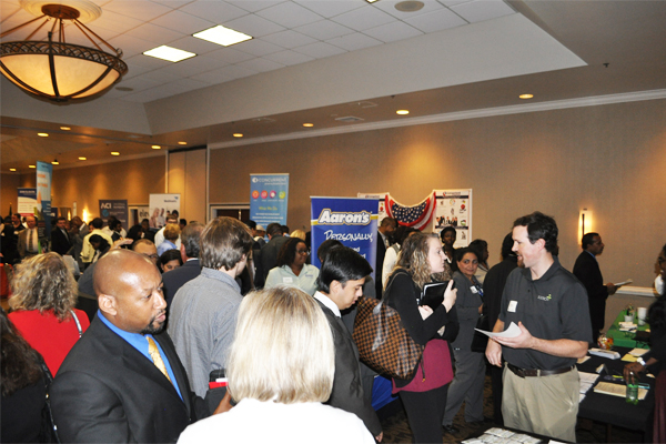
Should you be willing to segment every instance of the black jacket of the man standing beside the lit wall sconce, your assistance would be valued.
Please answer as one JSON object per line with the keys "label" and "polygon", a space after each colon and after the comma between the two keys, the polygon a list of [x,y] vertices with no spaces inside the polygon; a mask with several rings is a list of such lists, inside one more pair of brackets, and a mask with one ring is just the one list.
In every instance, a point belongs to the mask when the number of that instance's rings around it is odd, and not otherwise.
{"label": "black jacket of the man standing beside the lit wall sconce", "polygon": [[574,264],[574,275],[578,278],[578,281],[581,281],[587,291],[592,329],[602,330],[605,323],[608,287],[604,285],[599,263],[592,254],[583,251],[578,254],[578,259],[576,259],[576,263]]}

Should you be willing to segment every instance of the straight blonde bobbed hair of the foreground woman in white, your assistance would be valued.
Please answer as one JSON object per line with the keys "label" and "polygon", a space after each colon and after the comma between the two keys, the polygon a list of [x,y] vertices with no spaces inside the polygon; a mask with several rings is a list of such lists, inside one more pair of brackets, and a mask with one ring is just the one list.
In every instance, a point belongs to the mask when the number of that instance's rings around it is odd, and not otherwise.
{"label": "straight blonde bobbed hair of the foreground woman in white", "polygon": [[236,402],[324,402],[334,374],[333,335],[312,296],[278,285],[243,299],[226,362]]}

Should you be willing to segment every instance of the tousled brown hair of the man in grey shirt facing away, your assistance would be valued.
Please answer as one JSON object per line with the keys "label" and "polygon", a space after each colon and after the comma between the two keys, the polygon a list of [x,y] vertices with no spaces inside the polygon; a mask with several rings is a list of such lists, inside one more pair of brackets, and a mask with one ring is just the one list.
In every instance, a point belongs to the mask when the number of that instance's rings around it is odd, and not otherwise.
{"label": "tousled brown hair of the man in grey shirt facing away", "polygon": [[213,219],[201,233],[201,265],[229,271],[250,253],[253,242],[250,229],[238,219]]}

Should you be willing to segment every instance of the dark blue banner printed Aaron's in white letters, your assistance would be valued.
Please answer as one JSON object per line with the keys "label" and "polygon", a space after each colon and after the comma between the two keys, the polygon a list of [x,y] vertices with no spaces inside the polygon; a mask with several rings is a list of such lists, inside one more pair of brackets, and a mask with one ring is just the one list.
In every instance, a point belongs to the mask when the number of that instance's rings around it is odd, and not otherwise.
{"label": "dark blue banner printed Aaron's in white letters", "polygon": [[377,201],[354,198],[310,198],[312,224],[312,264],[321,268],[316,250],[335,239],[356,250],[376,271]]}

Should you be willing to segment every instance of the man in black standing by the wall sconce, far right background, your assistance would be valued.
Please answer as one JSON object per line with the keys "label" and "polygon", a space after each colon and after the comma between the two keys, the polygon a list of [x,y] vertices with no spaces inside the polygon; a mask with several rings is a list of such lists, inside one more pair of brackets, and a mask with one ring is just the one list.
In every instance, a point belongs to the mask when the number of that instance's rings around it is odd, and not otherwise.
{"label": "man in black standing by the wall sconce, far right background", "polygon": [[606,300],[615,294],[617,286],[613,283],[604,284],[602,271],[596,256],[604,252],[604,242],[599,233],[586,233],[581,241],[583,252],[574,264],[574,274],[587,291],[589,317],[592,319],[593,344],[596,344],[599,332],[604,329],[606,315]]}

